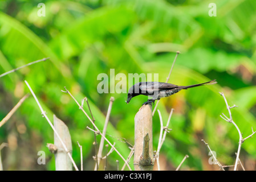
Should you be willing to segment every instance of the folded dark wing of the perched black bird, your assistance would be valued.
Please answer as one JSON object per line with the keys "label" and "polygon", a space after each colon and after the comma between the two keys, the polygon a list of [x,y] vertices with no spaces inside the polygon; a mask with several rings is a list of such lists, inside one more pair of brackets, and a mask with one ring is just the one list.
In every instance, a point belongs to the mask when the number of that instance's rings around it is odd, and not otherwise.
{"label": "folded dark wing of the perched black bird", "polygon": [[156,92],[159,90],[177,88],[177,85],[164,82],[141,82],[140,89],[144,92]]}

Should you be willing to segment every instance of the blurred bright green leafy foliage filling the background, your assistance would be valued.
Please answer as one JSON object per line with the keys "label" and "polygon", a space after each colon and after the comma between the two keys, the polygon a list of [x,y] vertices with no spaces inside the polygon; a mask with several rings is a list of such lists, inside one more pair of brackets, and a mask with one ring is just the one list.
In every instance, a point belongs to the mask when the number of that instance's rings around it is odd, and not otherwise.
{"label": "blurred bright green leafy foliage filling the background", "polygon": [[[204,139],[216,151],[222,164],[232,165],[238,147],[235,127],[220,118],[227,113],[224,92],[233,119],[243,137],[256,130],[256,2],[254,0],[214,1],[217,16],[209,16],[211,1],[175,0],[76,0],[46,1],[46,16],[38,16],[40,1],[0,1],[0,73],[31,61],[50,57],[0,78],[0,118],[29,92],[27,80],[48,117],[62,119],[70,129],[73,156],[79,166],[76,141],[83,146],[84,169],[94,169],[94,135],[75,102],[61,92],[64,86],[78,101],[88,98],[95,123],[103,129],[109,98],[115,97],[107,137],[116,142],[126,158],[133,144],[134,117],[147,97],[139,96],[125,104],[127,94],[97,93],[97,75],[115,68],[115,73],[159,73],[168,76],[176,51],[180,51],[169,82],[197,84],[217,79],[218,85],[182,91],[162,99],[158,106],[172,131],[160,151],[161,169],[175,169],[186,154],[181,169],[209,170]],[[116,81],[117,83],[118,81]],[[127,88],[128,89],[128,88]],[[86,105],[84,108],[88,111]],[[159,116],[153,117],[153,144],[156,150],[160,132]],[[54,156],[46,143],[53,143],[53,131],[29,97],[0,128],[0,143],[6,170],[54,170]],[[125,138],[125,139],[124,139]],[[100,137],[97,137],[100,140]],[[242,144],[241,160],[255,169],[256,140]],[[47,164],[36,163],[37,152],[46,152]],[[105,152],[105,150],[104,150]],[[108,169],[123,161],[113,152]],[[162,159],[162,160],[161,160]],[[132,166],[131,159],[131,166]],[[231,168],[230,168],[231,169]]]}

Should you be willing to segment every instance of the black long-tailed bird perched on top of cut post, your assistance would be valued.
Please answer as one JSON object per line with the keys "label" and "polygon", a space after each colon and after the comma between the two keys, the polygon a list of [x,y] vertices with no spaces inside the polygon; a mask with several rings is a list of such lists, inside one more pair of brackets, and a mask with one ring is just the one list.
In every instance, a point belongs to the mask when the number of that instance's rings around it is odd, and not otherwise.
{"label": "black long-tailed bird perched on top of cut post", "polygon": [[160,100],[160,98],[163,98],[163,97],[169,97],[177,92],[180,92],[180,90],[189,89],[189,88],[202,86],[202,85],[212,85],[212,84],[217,84],[217,81],[214,79],[208,82],[204,82],[202,84],[195,84],[195,85],[188,85],[188,86],[178,86],[178,85],[173,85],[166,82],[156,82],[156,81],[138,82],[135,85],[131,86],[131,88],[129,88],[126,103],[128,104],[133,97],[144,95],[152,98],[149,98],[147,102],[143,103],[143,105],[152,104],[152,103],[155,104],[155,100]]}

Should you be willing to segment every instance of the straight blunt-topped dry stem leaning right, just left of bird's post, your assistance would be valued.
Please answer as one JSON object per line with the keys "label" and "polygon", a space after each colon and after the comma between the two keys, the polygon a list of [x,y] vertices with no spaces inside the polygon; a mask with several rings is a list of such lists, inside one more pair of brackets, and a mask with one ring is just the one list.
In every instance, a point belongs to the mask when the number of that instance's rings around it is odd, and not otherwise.
{"label": "straight blunt-topped dry stem leaning right, just left of bird's post", "polygon": [[[110,117],[113,101],[114,101],[114,98],[111,97],[110,100],[109,100],[108,111],[107,111],[107,115],[106,115],[106,118],[105,118],[105,123],[104,123],[103,131],[102,131],[102,134],[104,135],[104,137],[105,137],[105,134],[106,134],[106,131],[107,131],[107,126],[108,126],[108,121],[109,121],[109,117]],[[97,170],[97,166],[100,165],[100,160],[102,158],[103,146],[104,146],[104,138],[101,137],[99,151],[98,151],[97,156],[96,156],[97,160],[96,160],[96,165],[95,165],[95,168],[94,168],[95,171]]]}

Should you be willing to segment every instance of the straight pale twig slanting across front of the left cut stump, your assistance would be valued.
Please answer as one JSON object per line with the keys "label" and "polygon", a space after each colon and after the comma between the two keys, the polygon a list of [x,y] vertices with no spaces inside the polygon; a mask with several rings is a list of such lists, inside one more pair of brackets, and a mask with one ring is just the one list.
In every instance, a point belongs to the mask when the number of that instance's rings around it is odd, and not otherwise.
{"label": "straight pale twig slanting across front of the left cut stump", "polygon": [[47,117],[47,115],[45,114],[45,111],[43,110],[42,106],[40,105],[38,99],[37,99],[36,96],[35,96],[35,93],[33,92],[33,90],[32,90],[31,87],[30,87],[29,83],[28,83],[26,80],[25,80],[25,83],[26,83],[27,87],[29,88],[29,90],[30,90],[32,96],[35,98],[35,101],[36,101],[36,103],[38,104],[39,109],[42,111],[43,117],[46,118],[46,120],[48,121],[48,123],[49,123],[49,125],[51,126],[52,130],[54,130],[54,133],[56,134],[56,136],[57,136],[58,139],[60,140],[60,143],[62,143],[62,146],[63,146],[64,150],[67,152],[67,154],[68,154],[68,156],[69,156],[69,158],[70,158],[70,160],[71,160],[73,166],[75,167],[76,171],[78,171],[78,167],[76,166],[76,164],[75,164],[75,162],[74,162],[74,160],[73,160],[73,158],[72,158],[72,156],[71,156],[71,154],[70,154],[70,151],[68,151],[66,144],[63,142],[62,138],[60,138],[58,132],[56,131],[56,129],[55,129],[54,126],[52,125],[50,119],[49,119],[49,118]]}

